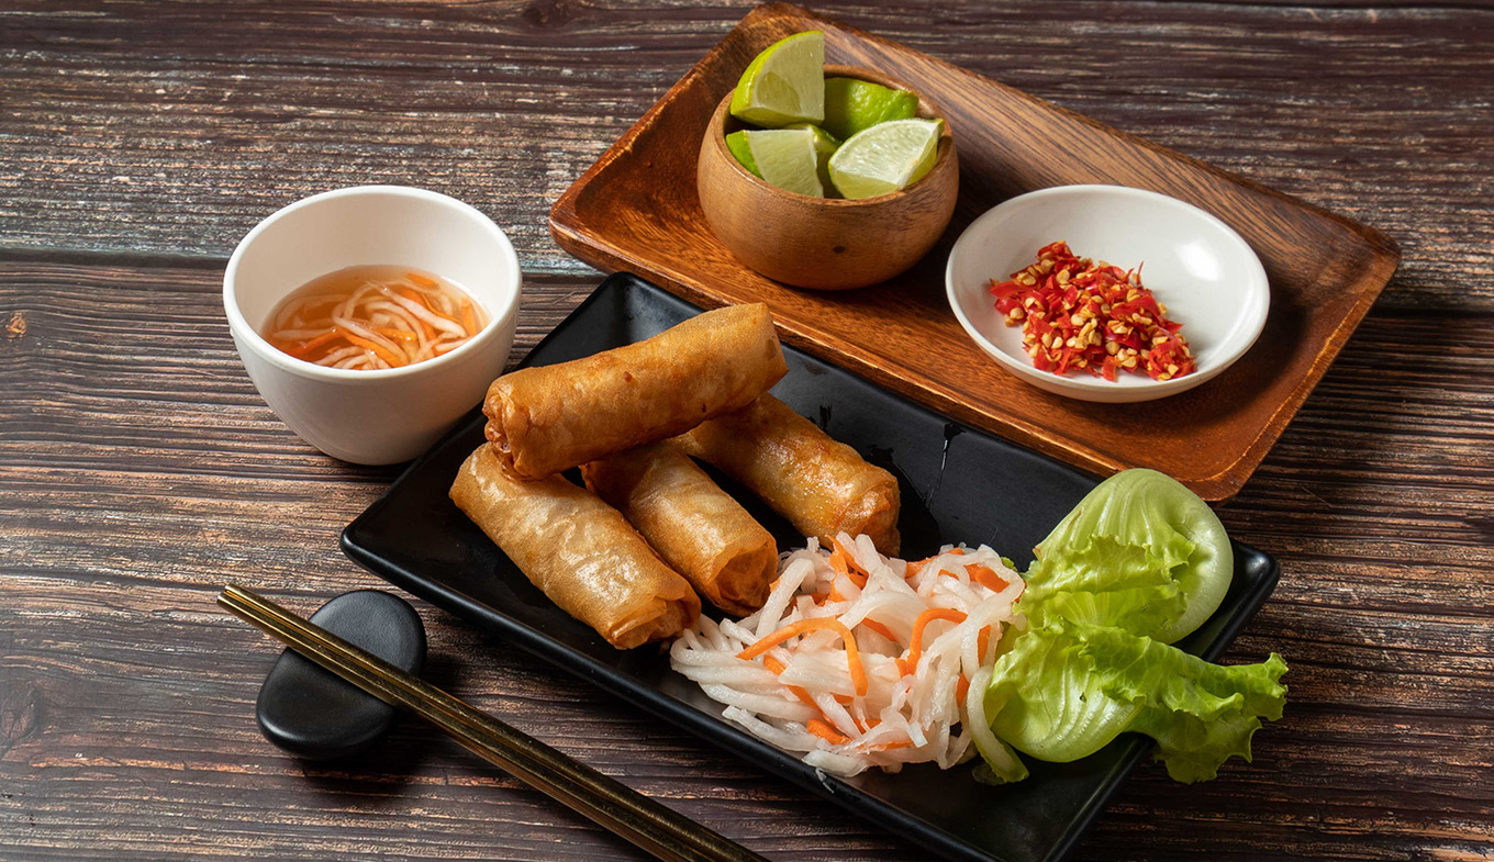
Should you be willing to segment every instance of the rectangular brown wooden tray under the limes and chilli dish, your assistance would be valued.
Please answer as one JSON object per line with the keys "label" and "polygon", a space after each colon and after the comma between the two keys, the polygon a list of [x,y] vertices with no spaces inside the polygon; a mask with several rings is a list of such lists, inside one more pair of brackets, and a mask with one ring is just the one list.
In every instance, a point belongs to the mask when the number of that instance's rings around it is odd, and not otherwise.
{"label": "rectangular brown wooden tray under the limes and chilli dish", "polygon": [[[910,82],[943,109],[959,145],[949,230],[880,285],[819,293],[769,281],[732,257],[701,214],[695,161],[711,111],[759,51],[802,30],[825,31],[826,63]],[[1179,396],[1103,405],[1040,391],[967,338],[944,299],[949,245],[1011,196],[1083,182],[1186,200],[1250,244],[1271,282],[1271,311],[1240,362]],[[707,308],[766,302],[787,342],[955,420],[1097,474],[1153,468],[1209,500],[1240,490],[1400,261],[1374,229],[781,3],[743,18],[604,152],[556,202],[550,232],[599,269],[636,272]]]}

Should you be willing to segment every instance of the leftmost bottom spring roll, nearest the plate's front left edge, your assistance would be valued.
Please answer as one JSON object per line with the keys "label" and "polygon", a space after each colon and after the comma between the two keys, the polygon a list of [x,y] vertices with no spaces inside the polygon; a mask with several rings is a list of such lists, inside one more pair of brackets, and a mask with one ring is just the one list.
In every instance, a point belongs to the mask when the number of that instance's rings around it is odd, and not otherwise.
{"label": "leftmost bottom spring roll, nearest the plate's front left edge", "polygon": [[550,601],[617,648],[678,635],[701,613],[690,584],[622,512],[565,477],[511,480],[481,445],[451,499]]}

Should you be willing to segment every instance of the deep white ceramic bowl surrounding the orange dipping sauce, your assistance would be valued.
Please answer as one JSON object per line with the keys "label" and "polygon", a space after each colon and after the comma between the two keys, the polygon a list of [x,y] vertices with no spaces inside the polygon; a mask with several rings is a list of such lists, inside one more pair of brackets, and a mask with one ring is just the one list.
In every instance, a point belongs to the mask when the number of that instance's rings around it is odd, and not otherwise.
{"label": "deep white ceramic bowl surrounding the orange dipping sauce", "polygon": [[[359,264],[448,278],[483,305],[489,323],[445,356],[382,370],[323,368],[260,336],[285,294]],[[229,258],[223,305],[249,379],[291,430],[329,456],[388,465],[429,448],[502,373],[518,288],[514,246],[472,206],[420,188],[363,185],[308,197],[261,221]]]}

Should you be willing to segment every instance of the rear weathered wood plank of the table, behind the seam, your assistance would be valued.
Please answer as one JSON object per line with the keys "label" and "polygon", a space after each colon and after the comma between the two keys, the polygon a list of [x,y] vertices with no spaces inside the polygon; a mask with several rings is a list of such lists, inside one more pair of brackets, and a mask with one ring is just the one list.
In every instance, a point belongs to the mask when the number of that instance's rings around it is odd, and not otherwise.
{"label": "rear weathered wood plank of the table, behind the seam", "polygon": [[[0,246],[223,257],[290,200],[409,182],[580,273],[548,205],[748,6],[12,4]],[[1494,308],[1487,9],[817,9],[1386,230],[1386,308]]]}

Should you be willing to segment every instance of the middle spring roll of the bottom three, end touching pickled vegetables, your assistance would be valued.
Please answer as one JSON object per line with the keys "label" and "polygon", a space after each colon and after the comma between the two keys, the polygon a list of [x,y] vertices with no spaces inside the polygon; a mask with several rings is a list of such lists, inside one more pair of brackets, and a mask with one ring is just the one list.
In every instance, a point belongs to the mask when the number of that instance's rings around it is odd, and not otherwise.
{"label": "middle spring roll of the bottom three, end touching pickled vegetables", "polygon": [[586,487],[617,506],[669,566],[713,605],[747,616],[768,599],[778,545],[741,503],[672,442],[581,468]]}

